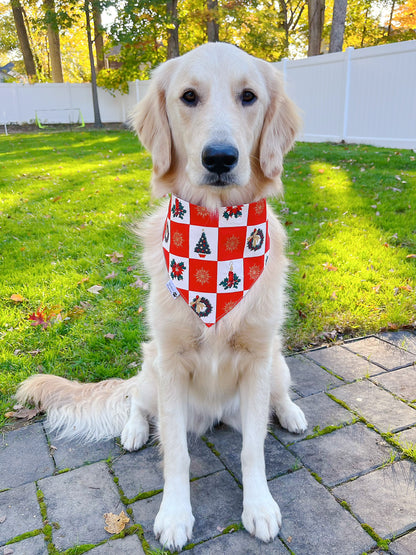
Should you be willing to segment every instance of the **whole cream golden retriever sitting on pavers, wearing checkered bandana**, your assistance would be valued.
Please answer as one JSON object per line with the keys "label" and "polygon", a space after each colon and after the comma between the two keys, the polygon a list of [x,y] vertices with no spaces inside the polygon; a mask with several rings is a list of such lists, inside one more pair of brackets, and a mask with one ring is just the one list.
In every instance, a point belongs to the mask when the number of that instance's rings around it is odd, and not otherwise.
{"label": "whole cream golden retriever sitting on pavers, wearing checkered bandana", "polygon": [[[47,410],[50,425],[66,437],[98,440],[120,435],[127,450],[147,442],[149,420],[154,419],[164,471],[154,533],[169,549],[181,549],[188,542],[194,523],[187,432],[201,434],[218,422],[233,426],[243,438],[242,522],[250,534],[268,542],[281,524],[265,474],[268,421],[275,413],[280,424],[295,433],[307,425],[290,399],[289,369],[281,354],[288,266],[285,232],[264,200],[282,192],[283,157],[298,129],[296,110],[272,65],[235,46],[210,43],[155,70],[133,122],[152,154],[153,193],[172,195],[140,231],[151,279],[147,309],[151,340],[143,345],[142,369],[129,380],[97,384],[32,376],[21,384],[17,397]],[[263,208],[265,221],[250,220],[250,214],[256,218]],[[249,210],[246,227],[239,233],[247,233],[242,243],[245,250],[251,249],[249,262],[260,252],[263,261],[250,273],[250,287],[239,290],[246,259],[208,261],[214,264],[214,273],[218,269],[214,286],[221,285],[224,295],[238,297],[231,304],[234,297],[227,297],[225,308],[215,291],[211,296],[183,293],[181,272],[188,262],[191,265],[192,253],[181,266],[162,244],[180,239],[173,220],[186,209],[207,218],[193,253],[208,258],[214,251],[234,248],[239,239],[230,239],[234,235],[229,229]],[[231,227],[218,231],[212,224],[215,218]],[[215,233],[217,245],[212,239]],[[220,282],[221,268],[226,272]],[[195,274],[201,282],[208,279],[204,271]],[[217,310],[214,320],[209,320],[211,310]]]}

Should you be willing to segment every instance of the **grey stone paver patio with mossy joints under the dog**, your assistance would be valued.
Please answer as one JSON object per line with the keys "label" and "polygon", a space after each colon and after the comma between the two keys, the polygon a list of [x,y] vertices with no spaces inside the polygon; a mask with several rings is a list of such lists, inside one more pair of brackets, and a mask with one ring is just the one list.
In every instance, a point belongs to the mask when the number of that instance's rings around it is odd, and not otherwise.
{"label": "grey stone paver patio with mossy joints under the dog", "polygon": [[[241,526],[241,437],[220,426],[190,438],[195,555],[416,555],[416,334],[378,334],[288,357],[309,428],[272,422],[270,490],[283,515],[270,544]],[[0,438],[0,555],[140,554],[153,536],[159,449],[63,443],[43,422]],[[125,532],[104,530],[124,510]],[[79,547],[79,550],[73,548]]]}

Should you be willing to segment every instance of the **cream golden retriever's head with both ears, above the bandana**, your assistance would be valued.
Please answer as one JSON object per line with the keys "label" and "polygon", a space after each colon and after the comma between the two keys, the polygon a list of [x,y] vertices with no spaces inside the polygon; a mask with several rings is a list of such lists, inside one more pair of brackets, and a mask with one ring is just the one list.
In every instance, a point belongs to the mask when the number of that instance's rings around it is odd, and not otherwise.
{"label": "cream golden retriever's head with both ears, above the bandana", "polygon": [[157,68],[133,123],[152,153],[155,194],[213,208],[279,193],[298,130],[279,72],[224,43]]}

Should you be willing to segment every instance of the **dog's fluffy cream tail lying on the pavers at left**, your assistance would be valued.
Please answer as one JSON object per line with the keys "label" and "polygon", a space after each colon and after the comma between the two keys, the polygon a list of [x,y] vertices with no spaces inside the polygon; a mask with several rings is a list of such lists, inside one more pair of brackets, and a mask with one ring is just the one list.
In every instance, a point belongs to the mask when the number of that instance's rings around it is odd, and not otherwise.
{"label": "dog's fluffy cream tail lying on the pavers at left", "polygon": [[20,385],[16,398],[45,410],[48,427],[59,437],[98,441],[120,435],[128,420],[134,379],[79,383],[37,374]]}

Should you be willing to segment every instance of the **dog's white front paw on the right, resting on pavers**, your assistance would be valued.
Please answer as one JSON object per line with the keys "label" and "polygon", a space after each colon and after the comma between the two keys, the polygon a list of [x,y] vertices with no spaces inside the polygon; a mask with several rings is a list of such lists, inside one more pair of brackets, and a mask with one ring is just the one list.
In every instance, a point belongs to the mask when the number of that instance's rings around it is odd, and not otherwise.
{"label": "dog's white front paw on the right, resting on pavers", "polygon": [[242,515],[243,526],[252,536],[264,542],[273,540],[279,533],[282,524],[279,505],[269,494],[249,502],[244,502]]}

